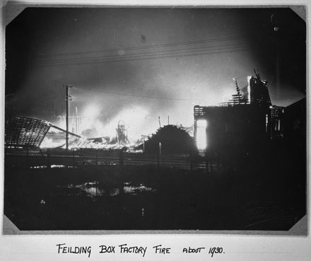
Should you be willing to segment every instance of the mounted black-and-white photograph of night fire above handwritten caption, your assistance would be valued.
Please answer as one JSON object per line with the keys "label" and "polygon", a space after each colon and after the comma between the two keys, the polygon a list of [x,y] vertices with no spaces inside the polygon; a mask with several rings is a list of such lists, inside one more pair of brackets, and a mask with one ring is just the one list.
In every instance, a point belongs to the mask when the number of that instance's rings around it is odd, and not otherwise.
{"label": "mounted black-and-white photograph of night fire above handwritten caption", "polygon": [[305,12],[30,6],[7,20],[4,233],[305,219],[307,235]]}

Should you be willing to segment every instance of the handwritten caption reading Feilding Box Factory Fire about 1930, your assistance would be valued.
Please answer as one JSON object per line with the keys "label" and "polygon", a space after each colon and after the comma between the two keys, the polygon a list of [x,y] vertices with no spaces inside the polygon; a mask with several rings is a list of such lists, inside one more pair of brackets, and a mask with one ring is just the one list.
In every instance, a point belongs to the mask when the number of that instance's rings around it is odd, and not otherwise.
{"label": "handwritten caption reading Feilding Box Factory Fire about 1930", "polygon": [[[67,245],[66,243],[59,243],[57,246],[57,253],[58,254],[81,254],[81,255],[87,255],[90,257],[90,254],[92,253],[92,246],[71,246]],[[142,257],[145,257],[147,250],[149,250],[150,253],[158,254],[158,255],[169,255],[172,253],[172,248],[168,248],[164,245],[154,245],[151,248],[148,248],[147,246],[138,246],[138,245],[128,245],[128,244],[122,244],[122,245],[98,245],[97,250],[95,252],[99,254],[136,254],[141,255]],[[182,253],[182,254],[207,254],[210,257],[213,257],[217,254],[224,254],[225,251],[221,247],[200,247],[200,248],[192,248],[192,247],[186,247],[178,249],[177,252],[175,250],[175,253]]]}

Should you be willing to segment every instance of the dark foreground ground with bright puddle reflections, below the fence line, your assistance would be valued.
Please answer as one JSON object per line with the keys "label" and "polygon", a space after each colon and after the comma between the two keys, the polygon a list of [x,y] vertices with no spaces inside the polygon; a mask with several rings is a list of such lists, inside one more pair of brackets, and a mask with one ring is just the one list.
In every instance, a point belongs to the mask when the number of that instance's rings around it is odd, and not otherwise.
{"label": "dark foreground ground with bright puddle reflections, below the fence line", "polygon": [[4,213],[20,230],[287,231],[306,213],[305,158],[242,158],[216,170],[5,166]]}

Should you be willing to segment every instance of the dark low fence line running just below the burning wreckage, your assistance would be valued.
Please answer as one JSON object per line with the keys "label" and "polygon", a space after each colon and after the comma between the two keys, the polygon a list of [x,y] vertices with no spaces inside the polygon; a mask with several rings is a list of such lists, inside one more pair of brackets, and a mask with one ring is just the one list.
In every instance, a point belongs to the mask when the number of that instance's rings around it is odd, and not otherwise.
{"label": "dark low fence line running just below the burning wreckage", "polygon": [[[61,153],[60,153],[61,152]],[[6,166],[17,168],[30,168],[31,166],[156,166],[157,168],[180,168],[187,170],[204,169],[213,172],[220,169],[216,161],[206,161],[204,158],[191,158],[189,156],[168,156],[146,153],[124,153],[124,151],[103,151],[100,149],[65,151],[6,151]],[[12,162],[13,161],[13,162]]]}

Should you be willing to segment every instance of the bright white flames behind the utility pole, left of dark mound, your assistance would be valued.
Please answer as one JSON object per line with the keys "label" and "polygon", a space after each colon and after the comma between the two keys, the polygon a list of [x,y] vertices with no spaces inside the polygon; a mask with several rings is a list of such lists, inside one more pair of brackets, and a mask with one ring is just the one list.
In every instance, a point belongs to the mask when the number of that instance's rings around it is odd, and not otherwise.
{"label": "bright white flames behind the utility pole, left of dark mound", "polygon": [[[66,129],[66,117],[59,116],[54,123],[56,126]],[[125,132],[129,140],[129,146],[142,142],[142,134],[153,130],[154,127],[150,124],[151,117],[145,108],[138,105],[130,105],[127,108],[119,110],[114,117],[108,119],[102,117],[102,108],[100,106],[91,104],[82,110],[81,115],[72,115],[69,117],[69,132],[76,132],[82,137],[77,139],[69,135],[69,149],[71,147],[110,147],[118,146],[117,144],[117,128],[120,121],[124,122]],[[78,129],[78,131],[76,131]],[[53,148],[57,146],[64,146],[66,139],[60,137],[57,129],[53,129],[56,134],[51,134],[51,137],[45,137],[42,141],[41,148]],[[148,134],[149,132],[147,132]],[[150,132],[151,133],[151,132]],[[92,143],[86,138],[103,137],[99,143]],[[110,139],[107,139],[110,138]],[[123,146],[123,145],[122,145]],[[108,148],[109,147],[109,148]]]}

